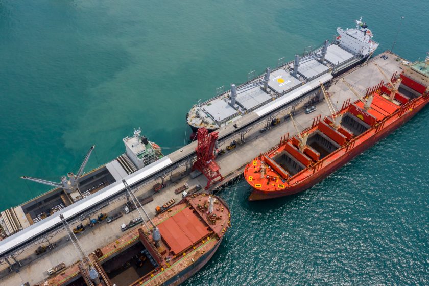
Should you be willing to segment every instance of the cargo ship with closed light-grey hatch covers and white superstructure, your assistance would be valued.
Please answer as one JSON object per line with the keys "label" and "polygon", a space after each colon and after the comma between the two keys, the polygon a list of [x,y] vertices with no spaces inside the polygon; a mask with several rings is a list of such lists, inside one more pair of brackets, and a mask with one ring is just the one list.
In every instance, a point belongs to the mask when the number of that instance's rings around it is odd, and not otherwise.
{"label": "cargo ship with closed light-grey hatch covers and white superstructure", "polygon": [[[249,73],[246,83],[231,84],[226,92],[222,86],[217,89],[216,97],[198,102],[186,114],[186,122],[194,131],[190,139],[195,139],[195,132],[201,127],[209,132],[219,129],[272,101],[288,98],[298,89],[302,90],[300,97],[305,97],[317,88],[311,84],[314,80],[344,73],[366,61],[378,47],[362,17],[356,21],[355,28],[343,30],[339,27],[337,33],[331,42],[325,40],[321,47],[309,47],[302,55],[295,55],[294,61],[284,63],[280,59],[277,67],[267,68],[264,75],[254,77],[253,72]],[[297,100],[290,98],[282,105]]]}

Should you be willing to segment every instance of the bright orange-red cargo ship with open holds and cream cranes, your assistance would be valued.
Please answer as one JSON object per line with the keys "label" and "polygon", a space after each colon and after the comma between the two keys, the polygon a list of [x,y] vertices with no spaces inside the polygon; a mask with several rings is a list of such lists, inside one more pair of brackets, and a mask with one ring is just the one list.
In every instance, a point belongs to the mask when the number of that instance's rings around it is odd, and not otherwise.
{"label": "bright orange-red cargo ship with open holds and cream cranes", "polygon": [[291,115],[298,135],[284,135],[278,146],[246,165],[244,176],[253,188],[250,201],[288,196],[313,186],[406,123],[429,102],[429,55],[422,62],[403,61],[401,73],[391,78],[377,68],[387,83],[367,89],[364,96],[342,79],[359,100],[346,101],[339,111],[320,84],[331,115],[323,120],[319,115],[302,132]]}

